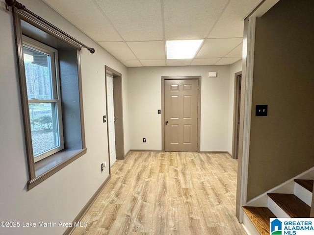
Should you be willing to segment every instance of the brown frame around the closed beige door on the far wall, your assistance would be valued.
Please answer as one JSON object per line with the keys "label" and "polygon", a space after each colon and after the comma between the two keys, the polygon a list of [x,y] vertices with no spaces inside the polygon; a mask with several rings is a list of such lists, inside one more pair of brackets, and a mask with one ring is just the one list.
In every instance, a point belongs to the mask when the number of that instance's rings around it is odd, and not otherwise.
{"label": "brown frame around the closed beige door on the far wall", "polygon": [[161,76],[161,151],[165,151],[165,80],[197,79],[198,101],[197,101],[197,152],[201,152],[201,82],[202,76]]}

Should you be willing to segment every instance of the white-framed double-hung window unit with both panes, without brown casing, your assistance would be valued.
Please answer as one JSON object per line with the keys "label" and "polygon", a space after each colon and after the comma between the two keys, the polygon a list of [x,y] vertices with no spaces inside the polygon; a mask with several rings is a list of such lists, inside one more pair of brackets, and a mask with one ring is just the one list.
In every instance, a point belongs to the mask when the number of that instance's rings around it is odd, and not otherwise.
{"label": "white-framed double-hung window unit with both panes, without brown casing", "polygon": [[23,58],[34,162],[64,149],[58,51],[23,37]]}

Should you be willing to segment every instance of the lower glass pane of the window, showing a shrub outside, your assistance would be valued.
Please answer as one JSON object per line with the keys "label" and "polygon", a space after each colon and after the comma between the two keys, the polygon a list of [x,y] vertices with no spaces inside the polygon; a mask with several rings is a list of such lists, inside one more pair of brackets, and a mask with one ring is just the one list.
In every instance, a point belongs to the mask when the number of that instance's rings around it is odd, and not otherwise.
{"label": "lower glass pane of the window, showing a shrub outside", "polygon": [[60,145],[56,106],[56,103],[28,104],[34,157]]}

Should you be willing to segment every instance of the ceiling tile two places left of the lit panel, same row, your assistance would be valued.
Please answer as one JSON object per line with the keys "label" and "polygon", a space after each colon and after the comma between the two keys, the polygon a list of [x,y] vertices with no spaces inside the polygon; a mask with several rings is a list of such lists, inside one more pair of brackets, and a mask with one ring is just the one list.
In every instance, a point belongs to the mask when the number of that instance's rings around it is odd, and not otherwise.
{"label": "ceiling tile two places left of the lit panel, same row", "polygon": [[135,55],[124,42],[100,42],[99,44],[118,60],[136,60]]}

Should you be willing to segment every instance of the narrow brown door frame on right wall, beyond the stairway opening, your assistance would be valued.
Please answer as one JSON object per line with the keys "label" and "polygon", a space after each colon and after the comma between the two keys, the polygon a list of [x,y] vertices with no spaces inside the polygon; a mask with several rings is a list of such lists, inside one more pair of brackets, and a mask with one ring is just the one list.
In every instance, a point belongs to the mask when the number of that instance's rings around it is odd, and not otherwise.
{"label": "narrow brown door frame on right wall, beyond the stairway opening", "polygon": [[[239,125],[240,118],[238,107],[240,106],[239,99],[241,98],[241,81],[239,76],[242,75],[242,71],[235,73],[235,89],[234,89],[234,124],[233,124],[233,138],[232,138],[232,158],[238,159],[238,145],[239,145]],[[240,92],[238,92],[240,90]]]}

